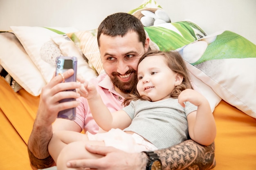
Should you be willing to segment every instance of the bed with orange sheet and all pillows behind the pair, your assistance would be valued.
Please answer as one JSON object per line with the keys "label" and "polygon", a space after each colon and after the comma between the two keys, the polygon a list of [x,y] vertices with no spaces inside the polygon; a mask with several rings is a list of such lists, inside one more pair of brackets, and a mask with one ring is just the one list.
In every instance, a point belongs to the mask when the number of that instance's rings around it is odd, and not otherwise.
{"label": "bed with orange sheet and all pillows behind the pair", "polygon": [[[141,22],[150,38],[151,49],[177,50],[184,57],[195,89],[207,97],[216,120],[216,167],[213,170],[254,170],[255,39],[252,38],[252,42],[227,29],[207,33],[200,24],[185,18],[173,22],[166,13],[168,7],[159,5],[160,2],[146,0],[121,12],[129,12],[139,19],[149,17],[151,22],[144,22],[144,19]],[[255,2],[250,3],[255,6]],[[164,22],[155,22],[157,10],[162,13],[161,16],[157,14],[157,18]],[[147,12],[141,14],[141,11]],[[1,28],[1,170],[31,170],[27,141],[36,117],[40,91],[54,73],[56,56],[78,57],[78,74],[86,79],[103,72],[96,28],[46,25]]]}

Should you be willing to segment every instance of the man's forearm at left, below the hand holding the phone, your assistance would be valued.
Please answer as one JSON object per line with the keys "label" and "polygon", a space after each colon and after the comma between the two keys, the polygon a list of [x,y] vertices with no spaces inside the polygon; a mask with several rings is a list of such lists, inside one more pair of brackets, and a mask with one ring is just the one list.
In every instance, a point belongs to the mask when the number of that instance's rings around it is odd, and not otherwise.
{"label": "man's forearm at left, below the hand holding the phone", "polygon": [[28,154],[32,168],[43,169],[54,165],[48,152],[48,143],[52,137],[52,126],[40,126],[35,121],[28,141]]}

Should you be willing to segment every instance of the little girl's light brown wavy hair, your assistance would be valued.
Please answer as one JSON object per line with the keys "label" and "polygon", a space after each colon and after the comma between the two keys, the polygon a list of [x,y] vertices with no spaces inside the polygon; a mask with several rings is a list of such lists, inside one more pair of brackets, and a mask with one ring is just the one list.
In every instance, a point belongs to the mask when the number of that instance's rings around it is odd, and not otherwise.
{"label": "little girl's light brown wavy hair", "polygon": [[[152,55],[162,55],[166,58],[166,64],[167,66],[174,71],[175,73],[178,73],[180,75],[182,75],[183,80],[182,83],[180,85],[175,86],[175,88],[173,89],[173,91],[170,94],[170,97],[172,98],[178,98],[178,96],[180,95],[180,93],[182,91],[184,91],[187,88],[191,88],[193,89],[193,86],[191,84],[191,80],[189,77],[189,72],[186,68],[186,64],[183,60],[183,58],[181,57],[180,53],[178,53],[177,51],[168,51],[168,52],[164,52],[164,51],[155,51],[155,50],[151,50],[148,51],[147,53],[145,53],[138,62],[139,63],[144,60],[146,57],[152,56]],[[142,99],[142,100],[149,100],[152,101],[149,97],[147,96],[141,96],[139,95],[136,86],[132,89],[132,92],[130,93],[130,95],[128,97],[126,97],[124,99],[124,106],[127,106],[130,101],[132,100],[138,100],[138,99]]]}

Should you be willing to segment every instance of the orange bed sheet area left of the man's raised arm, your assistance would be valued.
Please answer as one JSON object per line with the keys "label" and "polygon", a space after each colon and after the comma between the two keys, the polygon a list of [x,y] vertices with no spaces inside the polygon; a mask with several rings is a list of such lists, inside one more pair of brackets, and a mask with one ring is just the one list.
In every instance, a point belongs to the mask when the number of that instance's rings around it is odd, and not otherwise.
{"label": "orange bed sheet area left of the man's raised arm", "polygon": [[39,97],[21,89],[15,93],[0,77],[0,169],[31,170],[27,141],[33,127]]}

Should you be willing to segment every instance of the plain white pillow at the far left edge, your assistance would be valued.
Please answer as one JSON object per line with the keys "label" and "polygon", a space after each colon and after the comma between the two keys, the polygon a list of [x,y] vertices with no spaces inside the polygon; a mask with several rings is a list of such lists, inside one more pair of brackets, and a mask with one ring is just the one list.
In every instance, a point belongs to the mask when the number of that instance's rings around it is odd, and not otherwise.
{"label": "plain white pillow at the far left edge", "polygon": [[0,33],[0,65],[28,93],[38,96],[46,82],[13,33]]}

